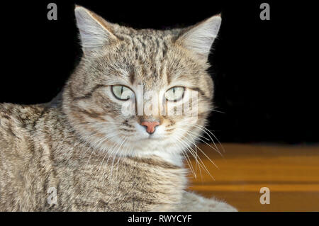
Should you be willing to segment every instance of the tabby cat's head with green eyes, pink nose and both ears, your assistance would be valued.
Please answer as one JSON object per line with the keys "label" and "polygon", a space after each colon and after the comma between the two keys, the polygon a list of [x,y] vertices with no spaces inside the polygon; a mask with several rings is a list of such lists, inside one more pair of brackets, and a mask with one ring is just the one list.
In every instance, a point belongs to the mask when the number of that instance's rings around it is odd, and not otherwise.
{"label": "tabby cat's head with green eyes, pink nose and both ears", "polygon": [[75,15],[84,56],[63,94],[69,122],[111,154],[177,163],[213,108],[208,54],[220,16],[184,29],[135,30],[81,6]]}

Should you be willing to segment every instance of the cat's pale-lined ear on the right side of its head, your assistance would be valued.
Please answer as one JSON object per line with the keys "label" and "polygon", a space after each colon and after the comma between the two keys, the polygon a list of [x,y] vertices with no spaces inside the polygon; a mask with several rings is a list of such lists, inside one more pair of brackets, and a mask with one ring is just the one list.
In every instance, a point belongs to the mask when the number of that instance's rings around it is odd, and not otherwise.
{"label": "cat's pale-lined ear on the right side of its head", "polygon": [[220,23],[221,17],[218,14],[195,26],[185,28],[177,38],[177,43],[207,59],[211,45],[217,37]]}

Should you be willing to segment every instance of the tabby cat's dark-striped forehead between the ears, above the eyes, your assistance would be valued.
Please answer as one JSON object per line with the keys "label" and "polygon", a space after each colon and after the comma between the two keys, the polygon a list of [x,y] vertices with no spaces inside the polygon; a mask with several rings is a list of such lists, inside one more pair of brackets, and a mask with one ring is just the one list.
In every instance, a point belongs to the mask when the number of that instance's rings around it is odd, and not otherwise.
{"label": "tabby cat's dark-striped forehead between the ears, above the eyes", "polygon": [[115,51],[106,48],[102,65],[128,84],[142,85],[146,90],[160,90],[179,78],[186,84],[195,82],[196,78],[187,74],[198,71],[198,65],[174,45],[176,33],[178,30],[118,30],[116,35],[122,41]]}

